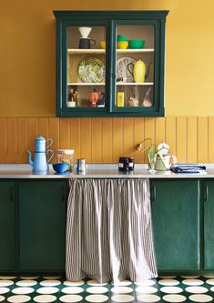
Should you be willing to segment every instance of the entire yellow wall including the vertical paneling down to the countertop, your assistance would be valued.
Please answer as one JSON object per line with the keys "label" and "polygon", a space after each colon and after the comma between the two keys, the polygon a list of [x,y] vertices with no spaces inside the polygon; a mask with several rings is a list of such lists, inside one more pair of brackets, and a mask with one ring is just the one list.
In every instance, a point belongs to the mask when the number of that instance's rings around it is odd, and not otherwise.
{"label": "entire yellow wall including the vertical paneling down to the countertop", "polygon": [[[56,118],[56,29],[53,10],[168,9],[166,117]],[[27,162],[38,135],[74,148],[87,163],[145,155],[146,137],[168,142],[179,162],[214,162],[213,0],[19,0],[0,10],[0,163]]]}

